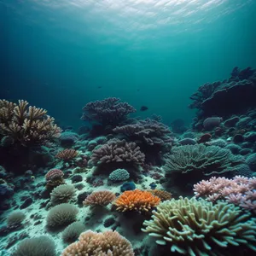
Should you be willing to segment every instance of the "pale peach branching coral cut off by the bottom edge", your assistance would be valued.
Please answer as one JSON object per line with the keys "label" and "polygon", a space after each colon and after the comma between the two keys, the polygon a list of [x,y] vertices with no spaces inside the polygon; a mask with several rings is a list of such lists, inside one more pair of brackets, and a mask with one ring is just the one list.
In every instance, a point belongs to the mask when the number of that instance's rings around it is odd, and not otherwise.
{"label": "pale peach branching coral cut off by the bottom edge", "polygon": [[134,256],[131,242],[117,231],[96,233],[88,230],[79,236],[79,241],[69,245],[61,256]]}

